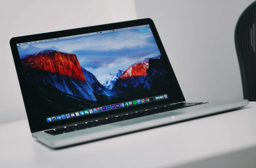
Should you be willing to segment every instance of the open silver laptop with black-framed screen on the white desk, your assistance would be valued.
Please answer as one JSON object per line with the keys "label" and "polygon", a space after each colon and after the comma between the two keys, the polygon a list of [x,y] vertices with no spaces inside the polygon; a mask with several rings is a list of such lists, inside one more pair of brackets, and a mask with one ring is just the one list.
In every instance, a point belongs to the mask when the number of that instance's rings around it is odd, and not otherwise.
{"label": "open silver laptop with black-framed screen on the white desk", "polygon": [[186,101],[149,18],[14,37],[10,47],[32,137],[50,148],[248,104]]}

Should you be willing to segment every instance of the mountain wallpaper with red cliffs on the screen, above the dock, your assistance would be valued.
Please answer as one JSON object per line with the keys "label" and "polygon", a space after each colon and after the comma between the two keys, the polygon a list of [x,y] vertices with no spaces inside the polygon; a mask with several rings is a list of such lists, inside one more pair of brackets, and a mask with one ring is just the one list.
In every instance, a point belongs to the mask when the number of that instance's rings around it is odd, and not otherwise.
{"label": "mountain wallpaper with red cliffs on the screen, above the dock", "polygon": [[18,46],[23,98],[53,116],[167,93],[168,74],[147,30]]}

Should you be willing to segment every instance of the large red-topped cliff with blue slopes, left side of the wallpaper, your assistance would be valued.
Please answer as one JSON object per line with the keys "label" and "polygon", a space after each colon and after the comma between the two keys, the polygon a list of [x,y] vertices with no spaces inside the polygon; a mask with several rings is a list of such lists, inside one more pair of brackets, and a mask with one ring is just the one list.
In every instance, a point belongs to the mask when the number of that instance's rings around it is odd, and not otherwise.
{"label": "large red-topped cliff with blue slopes, left side of the wallpaper", "polygon": [[113,94],[96,77],[80,66],[75,54],[45,50],[21,59],[27,81],[50,84],[64,93],[97,101],[94,94]]}

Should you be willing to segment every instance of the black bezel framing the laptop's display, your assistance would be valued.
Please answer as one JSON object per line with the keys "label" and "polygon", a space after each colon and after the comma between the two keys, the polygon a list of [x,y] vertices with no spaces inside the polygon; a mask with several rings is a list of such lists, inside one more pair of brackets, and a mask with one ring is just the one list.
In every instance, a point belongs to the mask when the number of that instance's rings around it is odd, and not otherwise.
{"label": "black bezel framing the laptop's display", "polygon": [[[70,120],[62,120],[62,121],[52,122],[52,123],[46,122],[46,125],[44,125],[44,126],[33,126],[33,125],[31,125],[30,121],[32,121],[34,118],[30,117],[29,114],[31,112],[28,110],[29,109],[27,107],[28,105],[26,105],[24,97],[22,96],[31,133],[46,130],[46,129],[52,129],[53,127],[67,125],[69,123],[80,122],[80,121],[89,121],[89,120],[93,120],[96,118],[104,118],[106,116],[115,116],[118,114],[123,114],[124,111],[134,112],[134,111],[139,111],[139,110],[142,110],[145,108],[151,108],[153,106],[185,101],[184,95],[183,95],[180,85],[177,81],[176,75],[172,69],[172,66],[169,62],[168,56],[164,49],[164,46],[161,42],[161,39],[158,35],[156,28],[155,28],[155,24],[154,24],[153,20],[150,18],[118,22],[118,23],[111,23],[111,24],[98,25],[98,26],[91,26],[91,27],[85,27],[85,28],[75,28],[75,29],[69,29],[69,30],[27,35],[27,36],[21,36],[21,37],[14,37],[14,38],[10,39],[10,47],[11,47],[11,51],[12,51],[15,68],[16,68],[16,73],[18,76],[19,84],[20,84],[21,94],[24,95],[23,94],[24,89],[22,88],[22,83],[25,82],[25,80],[24,80],[24,76],[23,76],[23,67],[20,62],[20,56],[19,56],[19,52],[18,52],[18,48],[17,48],[17,43],[24,43],[24,42],[28,42],[28,41],[37,41],[37,40],[43,40],[43,39],[60,38],[60,37],[66,37],[66,36],[73,36],[73,35],[79,35],[79,34],[85,34],[85,33],[105,31],[105,30],[110,30],[110,29],[127,28],[127,27],[140,26],[140,25],[146,25],[146,24],[150,25],[150,28],[154,35],[157,46],[160,50],[162,57],[164,58],[165,67],[167,68],[168,73],[173,73],[173,75],[174,75],[172,77],[171,81],[177,85],[176,89],[178,90],[178,92],[180,92],[180,95],[175,96],[175,97],[177,97],[177,99],[169,98],[169,99],[165,99],[162,101],[152,102],[150,104],[144,104],[144,105],[140,105],[140,106],[130,106],[130,107],[127,107],[124,109],[121,108],[121,109],[113,110],[113,111],[109,111],[109,112],[106,111],[106,112],[102,112],[102,113],[96,113],[93,115],[85,116],[85,118],[83,118],[83,117],[73,118]],[[170,95],[169,95],[169,97],[170,97]]]}

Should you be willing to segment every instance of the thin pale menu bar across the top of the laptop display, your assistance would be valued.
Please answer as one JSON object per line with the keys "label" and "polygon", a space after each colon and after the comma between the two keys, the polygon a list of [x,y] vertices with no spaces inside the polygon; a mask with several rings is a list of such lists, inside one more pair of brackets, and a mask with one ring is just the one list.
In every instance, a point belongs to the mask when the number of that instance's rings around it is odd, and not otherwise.
{"label": "thin pale menu bar across the top of the laptop display", "polygon": [[30,42],[18,43],[17,46],[29,45],[29,44],[35,44],[35,43],[43,43],[43,42],[48,42],[48,41],[56,41],[56,40],[61,40],[61,39],[70,39],[70,38],[76,38],[76,37],[90,36],[90,35],[94,35],[94,34],[111,33],[111,32],[115,32],[115,31],[123,31],[123,30],[134,29],[134,28],[143,28],[143,27],[149,27],[149,25],[141,25],[141,26],[133,26],[133,27],[128,27],[128,28],[104,30],[104,31],[98,31],[98,32],[93,32],[93,33],[60,37],[60,38],[55,38],[55,39],[44,39],[44,40],[38,40],[38,41],[30,41]]}

